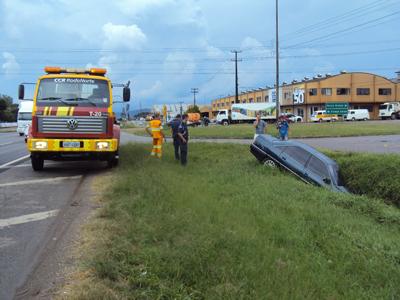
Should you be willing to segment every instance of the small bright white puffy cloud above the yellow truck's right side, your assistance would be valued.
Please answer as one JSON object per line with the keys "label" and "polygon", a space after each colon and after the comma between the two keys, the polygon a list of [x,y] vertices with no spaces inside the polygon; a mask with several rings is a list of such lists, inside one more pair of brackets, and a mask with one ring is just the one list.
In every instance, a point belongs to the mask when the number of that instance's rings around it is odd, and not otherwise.
{"label": "small bright white puffy cloud above the yellow truck's right side", "polygon": [[147,41],[146,35],[136,25],[114,25],[109,22],[104,24],[103,33],[104,48],[126,48],[130,50],[140,49]]}

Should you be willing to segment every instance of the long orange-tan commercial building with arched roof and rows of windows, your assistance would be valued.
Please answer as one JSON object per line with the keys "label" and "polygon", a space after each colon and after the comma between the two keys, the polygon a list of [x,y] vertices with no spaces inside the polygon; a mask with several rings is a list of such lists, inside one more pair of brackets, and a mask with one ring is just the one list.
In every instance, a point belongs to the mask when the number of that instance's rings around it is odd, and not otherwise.
{"label": "long orange-tan commercial building with arched roof and rows of windows", "polygon": [[[371,73],[343,71],[336,75],[317,75],[283,83],[279,87],[281,111],[300,115],[309,121],[314,111],[325,109],[326,103],[344,102],[350,109],[368,109],[371,119],[378,119],[380,104],[400,101],[400,72],[397,75],[395,79],[388,79]],[[244,92],[239,101],[274,102],[275,89]],[[230,109],[233,103],[235,96],[212,101],[213,114],[219,109]]]}

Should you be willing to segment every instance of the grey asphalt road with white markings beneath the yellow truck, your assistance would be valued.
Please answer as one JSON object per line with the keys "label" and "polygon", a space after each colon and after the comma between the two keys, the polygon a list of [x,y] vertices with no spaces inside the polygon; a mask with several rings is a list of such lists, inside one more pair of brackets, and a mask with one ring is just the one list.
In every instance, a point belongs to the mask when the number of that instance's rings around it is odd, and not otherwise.
{"label": "grey asphalt road with white markings beneath the yellow truck", "polygon": [[[27,155],[23,137],[0,133],[1,300],[40,294],[27,280],[56,252],[58,240],[81,213],[86,183],[107,171],[102,162],[46,161],[44,171],[34,172]],[[53,280],[46,277],[49,272],[42,271],[43,286]]]}

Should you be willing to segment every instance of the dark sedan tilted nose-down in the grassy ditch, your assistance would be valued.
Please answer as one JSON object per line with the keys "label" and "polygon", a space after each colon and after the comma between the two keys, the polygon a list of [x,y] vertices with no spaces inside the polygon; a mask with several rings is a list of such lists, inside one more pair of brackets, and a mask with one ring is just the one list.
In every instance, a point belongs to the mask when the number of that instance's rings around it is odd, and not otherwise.
{"label": "dark sedan tilted nose-down in the grassy ditch", "polygon": [[308,145],[259,135],[250,151],[264,165],[282,167],[306,183],[347,192],[340,181],[337,163]]}

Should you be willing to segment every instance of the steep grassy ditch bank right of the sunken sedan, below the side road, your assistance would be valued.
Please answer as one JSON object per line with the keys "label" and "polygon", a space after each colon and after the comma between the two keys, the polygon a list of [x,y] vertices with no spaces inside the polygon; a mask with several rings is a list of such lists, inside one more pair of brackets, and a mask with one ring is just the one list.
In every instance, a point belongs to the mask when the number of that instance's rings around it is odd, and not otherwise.
{"label": "steep grassy ditch bank right of the sunken sedan, below the side road", "polygon": [[329,153],[350,191],[400,207],[400,155]]}

